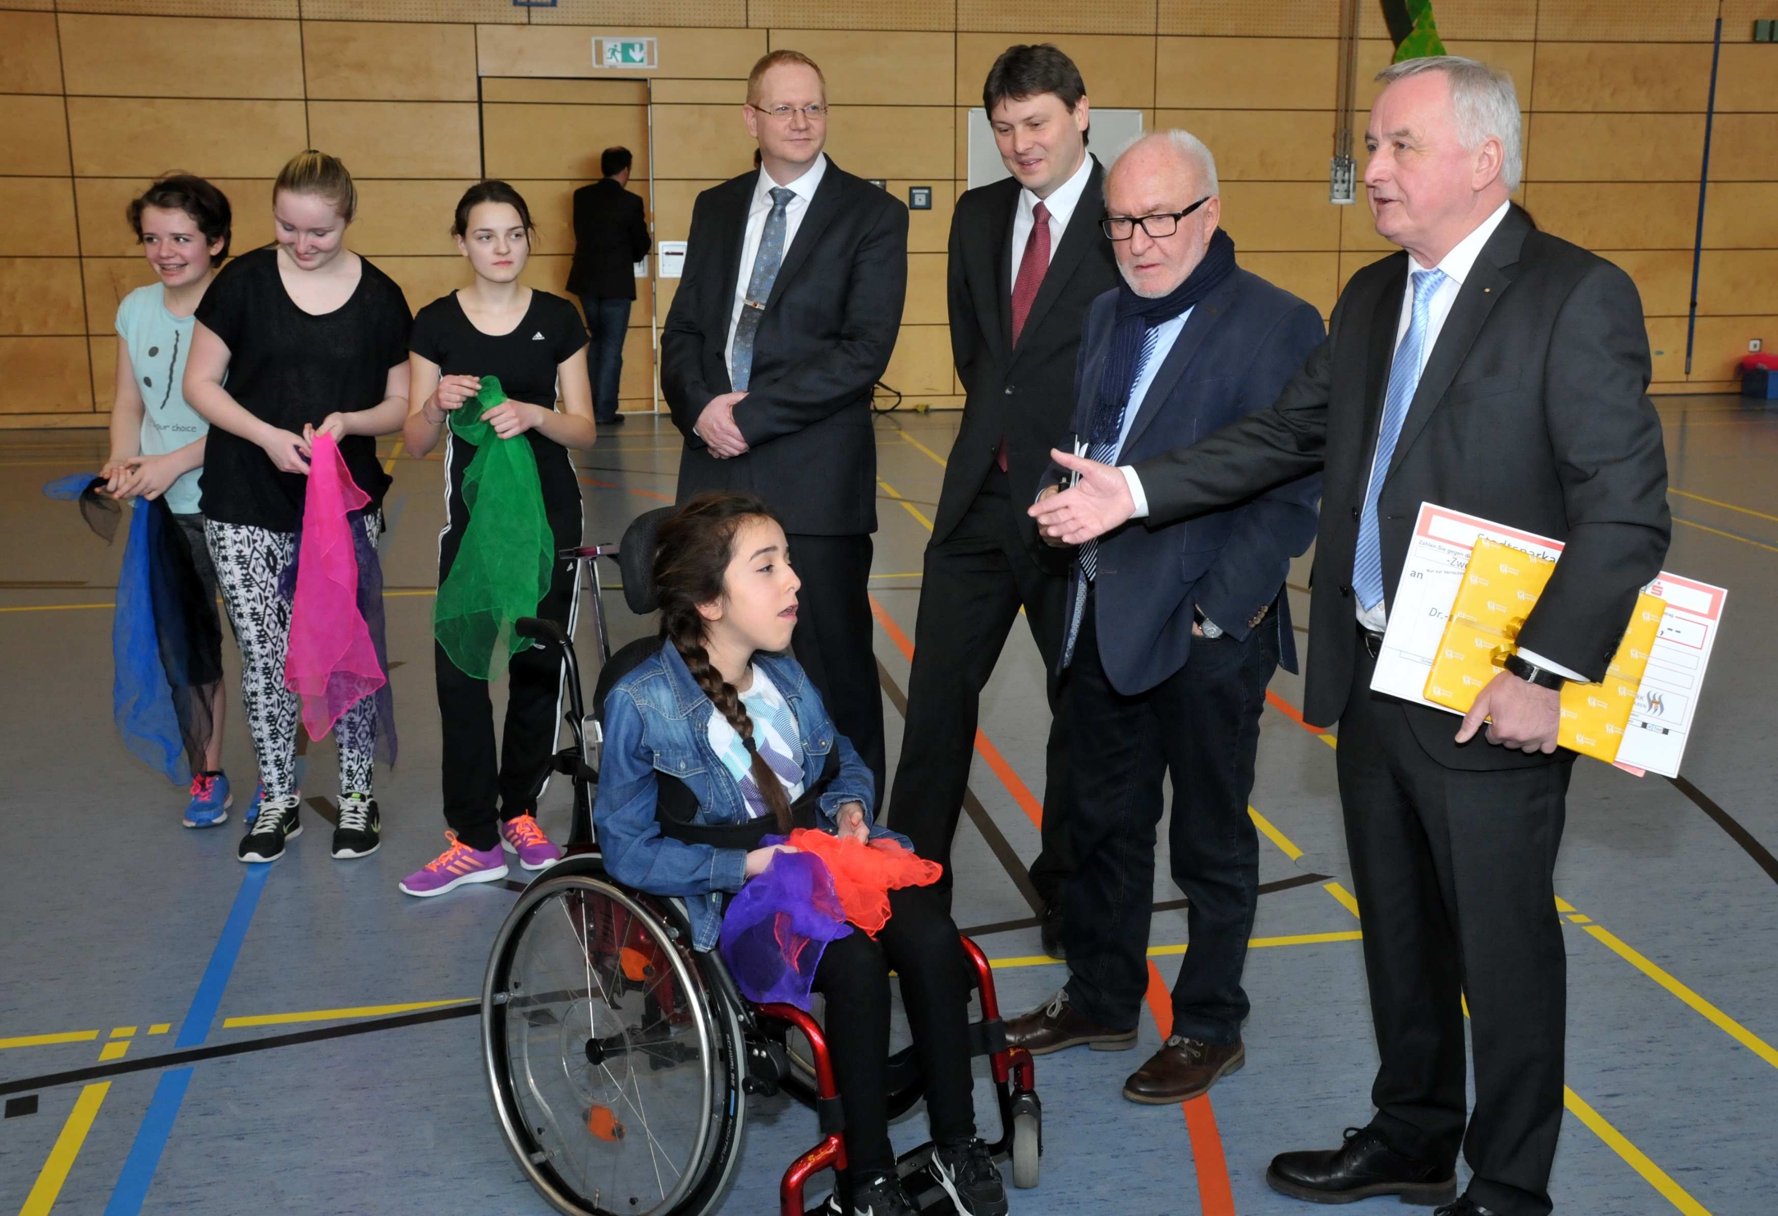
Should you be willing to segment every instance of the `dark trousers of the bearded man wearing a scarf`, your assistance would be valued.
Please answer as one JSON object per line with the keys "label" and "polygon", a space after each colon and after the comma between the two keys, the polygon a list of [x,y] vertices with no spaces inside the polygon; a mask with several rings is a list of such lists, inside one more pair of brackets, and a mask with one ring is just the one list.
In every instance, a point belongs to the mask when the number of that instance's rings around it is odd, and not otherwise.
{"label": "dark trousers of the bearded man wearing a scarf", "polygon": [[1149,917],[1161,777],[1173,780],[1168,852],[1191,900],[1191,949],[1173,981],[1173,1033],[1232,1044],[1248,1013],[1241,969],[1259,905],[1259,832],[1246,812],[1278,619],[1246,642],[1193,638],[1186,665],[1125,697],[1099,663],[1095,596],[1074,645],[1074,855],[1069,880],[1069,997],[1102,1026],[1129,1029],[1149,988]]}

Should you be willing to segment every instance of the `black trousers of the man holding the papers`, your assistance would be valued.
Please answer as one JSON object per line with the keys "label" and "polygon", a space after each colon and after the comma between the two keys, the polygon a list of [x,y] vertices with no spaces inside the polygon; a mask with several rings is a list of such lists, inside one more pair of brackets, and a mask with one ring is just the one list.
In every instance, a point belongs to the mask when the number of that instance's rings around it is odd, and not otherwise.
{"label": "black trousers of the man holding the papers", "polygon": [[[1371,692],[1373,668],[1360,645],[1339,720],[1382,1056],[1371,1125],[1398,1152],[1446,1168],[1462,1147],[1478,1204],[1543,1216],[1563,1109],[1568,958],[1554,869],[1574,754],[1533,768],[1446,768],[1414,738],[1405,706]],[[1467,1134],[1463,997],[1476,1051]]]}

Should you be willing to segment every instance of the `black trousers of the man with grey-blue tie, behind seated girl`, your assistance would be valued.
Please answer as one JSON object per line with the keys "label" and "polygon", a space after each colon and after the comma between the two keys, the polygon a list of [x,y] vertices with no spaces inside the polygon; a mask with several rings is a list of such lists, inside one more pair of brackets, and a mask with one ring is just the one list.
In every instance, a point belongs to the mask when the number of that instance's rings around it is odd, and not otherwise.
{"label": "black trousers of the man with grey-blue tie, behind seated girl", "polygon": [[788,537],[789,560],[802,580],[791,649],[814,681],[827,715],[839,727],[877,782],[873,809],[884,791],[884,695],[871,647],[871,539]]}

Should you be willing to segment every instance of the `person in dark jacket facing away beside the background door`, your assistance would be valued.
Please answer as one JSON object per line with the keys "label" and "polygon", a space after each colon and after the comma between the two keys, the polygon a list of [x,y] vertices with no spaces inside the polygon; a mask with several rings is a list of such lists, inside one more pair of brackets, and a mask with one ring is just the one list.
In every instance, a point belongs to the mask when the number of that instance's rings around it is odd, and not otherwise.
{"label": "person in dark jacket facing away beside the background door", "polygon": [[642,199],[628,190],[628,148],[599,153],[592,185],[574,190],[574,265],[567,290],[587,313],[587,372],[592,375],[592,416],[601,427],[621,427],[617,388],[624,375],[624,336],[629,306],[637,302],[635,263],[649,256],[649,222]]}

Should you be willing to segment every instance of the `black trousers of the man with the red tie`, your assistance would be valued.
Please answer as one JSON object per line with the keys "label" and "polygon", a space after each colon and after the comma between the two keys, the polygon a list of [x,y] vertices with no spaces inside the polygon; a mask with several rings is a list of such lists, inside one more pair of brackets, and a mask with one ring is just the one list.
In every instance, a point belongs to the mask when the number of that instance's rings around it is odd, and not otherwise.
{"label": "black trousers of the man with the red tie", "polygon": [[994,674],[1019,608],[1049,672],[1049,747],[1044,766],[1044,850],[1031,862],[1031,885],[1049,903],[1074,869],[1069,841],[1069,718],[1063,699],[1061,631],[1069,580],[1031,560],[1006,475],[990,469],[976,501],[944,540],[926,546],[914,624],[914,670],[907,683],[907,731],[894,773],[889,825],[914,852],[944,866],[951,891],[951,837],[976,747],[981,690]]}

